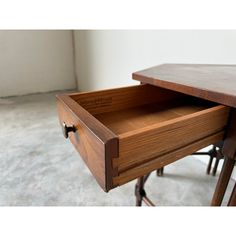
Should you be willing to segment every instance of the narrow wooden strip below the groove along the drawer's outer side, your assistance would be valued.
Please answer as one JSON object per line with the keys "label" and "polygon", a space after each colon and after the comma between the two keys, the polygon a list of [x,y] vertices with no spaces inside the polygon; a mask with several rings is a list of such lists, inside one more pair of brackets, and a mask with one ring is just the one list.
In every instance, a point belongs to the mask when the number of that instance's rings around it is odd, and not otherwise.
{"label": "narrow wooden strip below the groove along the drawer's outer side", "polygon": [[183,157],[186,157],[187,155],[190,155],[212,143],[218,142],[219,140],[222,140],[223,136],[224,132],[221,131],[209,137],[195,141],[187,146],[181,147],[177,150],[173,150],[172,152],[161,155],[157,158],[153,158],[148,162],[145,162],[137,167],[134,167],[119,174],[119,176],[114,177],[113,182],[115,185],[123,185],[131,180],[134,180],[147,173],[150,173],[151,171],[154,171],[170,163],[173,163]]}

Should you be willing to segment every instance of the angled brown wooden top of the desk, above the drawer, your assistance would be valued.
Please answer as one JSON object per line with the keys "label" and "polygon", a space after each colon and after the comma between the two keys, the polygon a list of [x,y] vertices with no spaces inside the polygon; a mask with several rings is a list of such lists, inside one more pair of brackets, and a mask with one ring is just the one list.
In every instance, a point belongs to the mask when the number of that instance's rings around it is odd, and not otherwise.
{"label": "angled brown wooden top of the desk, above the drawer", "polygon": [[163,64],[133,79],[236,108],[236,65]]}

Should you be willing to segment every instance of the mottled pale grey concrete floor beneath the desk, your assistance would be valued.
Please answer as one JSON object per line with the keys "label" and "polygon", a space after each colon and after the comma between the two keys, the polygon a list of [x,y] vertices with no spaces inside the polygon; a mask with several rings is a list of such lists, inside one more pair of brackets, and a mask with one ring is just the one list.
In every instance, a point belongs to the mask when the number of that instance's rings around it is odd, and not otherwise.
{"label": "mottled pale grey concrete floor beneath the desk", "polygon": [[[206,157],[208,158],[208,157]],[[194,157],[153,173],[146,191],[159,206],[206,206],[217,177]],[[0,99],[1,206],[133,206],[135,181],[103,192],[61,133],[55,93]],[[224,199],[224,205],[233,187]]]}

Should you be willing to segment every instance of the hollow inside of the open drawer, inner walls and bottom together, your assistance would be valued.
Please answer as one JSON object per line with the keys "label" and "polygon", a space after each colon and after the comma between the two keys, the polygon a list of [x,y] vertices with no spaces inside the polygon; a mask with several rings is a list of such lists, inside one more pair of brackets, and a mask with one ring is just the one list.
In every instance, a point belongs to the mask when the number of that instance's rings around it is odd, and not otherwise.
{"label": "hollow inside of the open drawer, inner walls and bottom together", "polygon": [[74,96],[74,99],[120,137],[215,105],[150,85],[82,93]]}

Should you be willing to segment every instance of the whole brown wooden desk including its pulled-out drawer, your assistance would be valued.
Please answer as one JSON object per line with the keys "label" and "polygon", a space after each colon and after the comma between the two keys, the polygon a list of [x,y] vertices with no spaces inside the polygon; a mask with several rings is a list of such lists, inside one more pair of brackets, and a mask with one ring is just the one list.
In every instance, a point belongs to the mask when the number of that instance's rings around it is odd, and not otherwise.
{"label": "whole brown wooden desk including its pulled-out drawer", "polygon": [[236,156],[236,67],[161,65],[133,78],[143,84],[58,95],[65,138],[106,192],[224,140],[220,205]]}

